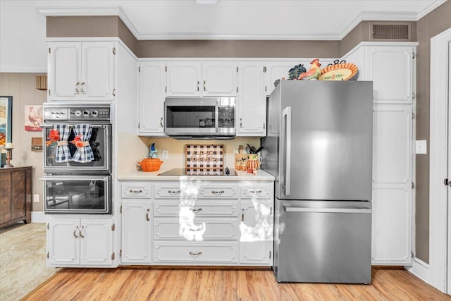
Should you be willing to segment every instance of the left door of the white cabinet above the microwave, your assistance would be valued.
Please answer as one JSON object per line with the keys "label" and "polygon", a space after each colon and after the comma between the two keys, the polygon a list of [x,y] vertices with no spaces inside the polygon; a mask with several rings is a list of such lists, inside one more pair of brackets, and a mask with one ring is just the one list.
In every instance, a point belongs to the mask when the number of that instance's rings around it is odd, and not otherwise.
{"label": "left door of the white cabinet above the microwave", "polygon": [[201,65],[195,61],[168,62],[166,96],[200,96]]}

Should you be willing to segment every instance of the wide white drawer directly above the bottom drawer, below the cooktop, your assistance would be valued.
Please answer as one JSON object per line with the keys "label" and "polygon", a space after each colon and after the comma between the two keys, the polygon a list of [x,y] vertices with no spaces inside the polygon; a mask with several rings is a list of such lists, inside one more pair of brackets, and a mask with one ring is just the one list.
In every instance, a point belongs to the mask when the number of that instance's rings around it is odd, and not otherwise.
{"label": "wide white drawer directly above the bottom drawer, below the cooktop", "polygon": [[155,240],[236,240],[237,219],[154,219]]}

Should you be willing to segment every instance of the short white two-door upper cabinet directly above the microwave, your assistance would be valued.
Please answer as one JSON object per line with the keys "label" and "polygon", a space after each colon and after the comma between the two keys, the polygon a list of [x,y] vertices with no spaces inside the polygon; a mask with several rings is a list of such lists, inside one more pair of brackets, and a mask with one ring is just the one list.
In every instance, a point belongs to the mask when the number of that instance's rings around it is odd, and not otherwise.
{"label": "short white two-door upper cabinet directly above the microwave", "polygon": [[235,96],[237,63],[228,61],[168,62],[167,96]]}

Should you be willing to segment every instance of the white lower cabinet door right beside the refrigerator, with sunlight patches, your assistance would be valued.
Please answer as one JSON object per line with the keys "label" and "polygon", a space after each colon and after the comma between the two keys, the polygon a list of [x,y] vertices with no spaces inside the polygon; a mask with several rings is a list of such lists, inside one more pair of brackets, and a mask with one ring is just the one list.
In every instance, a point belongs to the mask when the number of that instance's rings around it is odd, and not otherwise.
{"label": "white lower cabinet door right beside the refrigerator, with sunlight patches", "polygon": [[273,264],[273,205],[245,201],[240,205],[240,264]]}

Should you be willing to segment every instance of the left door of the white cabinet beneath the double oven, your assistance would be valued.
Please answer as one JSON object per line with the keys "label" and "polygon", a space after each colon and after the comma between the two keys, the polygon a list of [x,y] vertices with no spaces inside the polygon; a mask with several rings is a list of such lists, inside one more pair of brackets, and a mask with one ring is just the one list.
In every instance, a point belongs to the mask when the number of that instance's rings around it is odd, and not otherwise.
{"label": "left door of the white cabinet beneath the double oven", "polygon": [[49,219],[47,261],[50,265],[80,264],[80,219]]}

